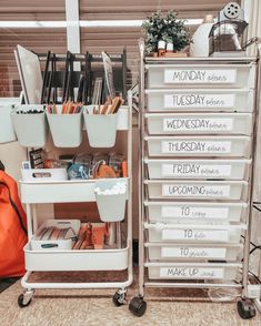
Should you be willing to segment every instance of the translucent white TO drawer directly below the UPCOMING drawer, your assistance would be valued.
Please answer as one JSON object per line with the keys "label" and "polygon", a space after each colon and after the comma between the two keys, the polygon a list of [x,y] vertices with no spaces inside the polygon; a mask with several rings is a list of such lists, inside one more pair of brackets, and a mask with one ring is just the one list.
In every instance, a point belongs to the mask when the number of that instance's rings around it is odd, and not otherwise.
{"label": "translucent white TO drawer directly below the UPCOMING drawer", "polygon": [[244,222],[247,203],[144,202],[150,223]]}

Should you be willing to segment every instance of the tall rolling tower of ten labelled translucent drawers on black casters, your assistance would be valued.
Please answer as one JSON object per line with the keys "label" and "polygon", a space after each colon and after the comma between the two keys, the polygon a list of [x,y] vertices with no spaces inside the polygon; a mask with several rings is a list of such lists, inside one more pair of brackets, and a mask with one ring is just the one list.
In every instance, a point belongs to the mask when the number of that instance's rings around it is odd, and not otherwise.
{"label": "tall rolling tower of ten labelled translucent drawers on black casters", "polygon": [[140,55],[140,284],[129,308],[144,314],[148,287],[237,288],[251,318],[260,60],[144,57],[143,42]]}

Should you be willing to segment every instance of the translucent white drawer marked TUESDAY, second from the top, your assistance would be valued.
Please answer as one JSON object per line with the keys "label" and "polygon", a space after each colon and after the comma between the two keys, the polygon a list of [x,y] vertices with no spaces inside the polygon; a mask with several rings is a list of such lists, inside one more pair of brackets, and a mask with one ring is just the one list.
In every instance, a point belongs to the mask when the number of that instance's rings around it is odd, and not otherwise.
{"label": "translucent white drawer marked TUESDAY, second from the top", "polygon": [[252,112],[253,90],[147,90],[149,111]]}

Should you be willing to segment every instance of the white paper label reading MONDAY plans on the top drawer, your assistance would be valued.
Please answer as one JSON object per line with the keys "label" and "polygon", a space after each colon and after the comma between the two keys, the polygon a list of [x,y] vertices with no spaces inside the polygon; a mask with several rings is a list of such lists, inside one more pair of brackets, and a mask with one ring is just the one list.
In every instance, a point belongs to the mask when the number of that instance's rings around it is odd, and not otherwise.
{"label": "white paper label reading MONDAY plans on the top drawer", "polygon": [[234,83],[235,69],[165,69],[165,83]]}

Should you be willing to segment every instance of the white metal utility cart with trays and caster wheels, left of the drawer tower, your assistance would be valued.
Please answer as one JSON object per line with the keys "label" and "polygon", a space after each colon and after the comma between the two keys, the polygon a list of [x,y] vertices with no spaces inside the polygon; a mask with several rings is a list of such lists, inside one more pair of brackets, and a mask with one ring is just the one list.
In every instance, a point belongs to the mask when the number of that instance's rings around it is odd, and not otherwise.
{"label": "white metal utility cart with trays and caster wheels, left of the drawer tower", "polygon": [[[38,228],[37,204],[43,203],[78,203],[94,202],[94,189],[98,180],[68,180],[68,181],[20,181],[21,201],[26,204],[28,237],[29,242],[24,247],[27,273],[21,279],[24,293],[18,298],[20,307],[26,307],[31,303],[36,289],[41,288],[116,288],[113,303],[120,306],[126,303],[127,288],[132,284],[132,96],[128,94],[128,106],[122,106],[119,111],[117,130],[127,132],[127,162],[128,177],[114,179],[127,184],[127,208],[124,223],[117,224],[117,233],[127,226],[126,238],[120,241],[117,237],[116,248],[104,249],[32,249],[31,240]],[[99,179],[99,182],[101,179]],[[110,179],[113,181],[113,179]],[[93,282],[93,283],[41,283],[30,282],[29,277],[33,272],[49,271],[53,273],[66,271],[127,271],[124,281]]]}

